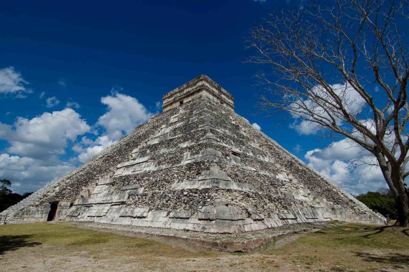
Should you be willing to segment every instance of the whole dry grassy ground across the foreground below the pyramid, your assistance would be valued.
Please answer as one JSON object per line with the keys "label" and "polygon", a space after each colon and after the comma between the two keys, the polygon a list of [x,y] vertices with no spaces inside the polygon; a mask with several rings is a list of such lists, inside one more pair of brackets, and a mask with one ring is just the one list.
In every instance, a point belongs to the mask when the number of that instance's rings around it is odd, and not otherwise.
{"label": "whole dry grassy ground across the foreground below the pyramid", "polygon": [[0,225],[0,270],[409,270],[409,229],[343,224],[250,253],[50,223]]}

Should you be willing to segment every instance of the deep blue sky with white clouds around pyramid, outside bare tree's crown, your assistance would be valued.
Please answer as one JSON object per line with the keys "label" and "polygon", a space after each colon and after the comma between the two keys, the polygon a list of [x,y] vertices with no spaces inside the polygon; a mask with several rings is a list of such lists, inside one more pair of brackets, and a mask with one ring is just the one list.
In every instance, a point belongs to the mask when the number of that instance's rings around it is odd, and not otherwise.
{"label": "deep blue sky with white clouds around pyramid, outside bare tree's crown", "polygon": [[162,95],[206,74],[284,148],[313,167],[327,157],[317,170],[349,192],[384,187],[379,173],[349,176],[334,166],[328,154],[344,152],[343,142],[323,150],[330,140],[291,128],[285,114],[258,114],[260,67],[243,63],[244,39],[267,12],[303,3],[0,1],[0,178],[19,193],[37,190],[160,112]]}

